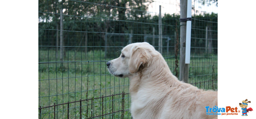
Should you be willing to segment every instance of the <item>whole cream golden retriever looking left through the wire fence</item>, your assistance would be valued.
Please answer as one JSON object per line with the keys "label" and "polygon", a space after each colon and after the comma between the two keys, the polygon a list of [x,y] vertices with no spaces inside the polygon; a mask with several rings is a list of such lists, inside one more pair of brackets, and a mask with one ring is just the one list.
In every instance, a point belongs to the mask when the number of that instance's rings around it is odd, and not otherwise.
{"label": "whole cream golden retriever looking left through the wire fence", "polygon": [[132,43],[107,63],[108,71],[130,81],[134,119],[210,119],[205,106],[218,106],[217,91],[204,91],[179,81],[164,57],[147,42]]}

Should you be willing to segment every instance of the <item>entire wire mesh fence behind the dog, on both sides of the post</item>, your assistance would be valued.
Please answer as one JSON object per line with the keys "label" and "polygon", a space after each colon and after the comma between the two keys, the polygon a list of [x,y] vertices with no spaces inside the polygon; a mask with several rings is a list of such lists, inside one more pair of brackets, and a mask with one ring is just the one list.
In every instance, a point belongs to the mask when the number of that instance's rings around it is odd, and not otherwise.
{"label": "entire wire mesh fence behind the dog, on both sides of the post", "polygon": [[[178,0],[38,3],[38,118],[132,118],[129,79],[110,75],[106,66],[129,43],[150,43],[179,76]],[[188,83],[215,90],[216,3],[195,0],[192,6]]]}

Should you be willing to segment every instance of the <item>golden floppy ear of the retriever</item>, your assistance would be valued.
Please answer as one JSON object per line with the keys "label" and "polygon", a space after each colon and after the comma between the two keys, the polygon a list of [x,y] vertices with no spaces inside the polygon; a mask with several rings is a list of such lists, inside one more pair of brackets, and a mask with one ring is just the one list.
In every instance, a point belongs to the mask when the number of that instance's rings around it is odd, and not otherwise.
{"label": "golden floppy ear of the retriever", "polygon": [[149,52],[140,47],[135,47],[132,49],[132,56],[129,61],[129,71],[130,73],[135,73],[141,68],[144,68],[145,66],[148,65],[149,59],[150,59],[150,54]]}

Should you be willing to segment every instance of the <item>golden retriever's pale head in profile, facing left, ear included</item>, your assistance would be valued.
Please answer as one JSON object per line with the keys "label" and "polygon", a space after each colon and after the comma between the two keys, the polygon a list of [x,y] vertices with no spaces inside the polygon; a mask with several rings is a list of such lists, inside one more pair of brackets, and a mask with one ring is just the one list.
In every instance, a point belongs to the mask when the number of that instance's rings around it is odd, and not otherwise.
{"label": "golden retriever's pale head in profile, facing left, ear included", "polygon": [[149,43],[132,43],[122,49],[118,58],[107,62],[108,71],[117,77],[129,77],[148,67],[156,55],[157,51]]}

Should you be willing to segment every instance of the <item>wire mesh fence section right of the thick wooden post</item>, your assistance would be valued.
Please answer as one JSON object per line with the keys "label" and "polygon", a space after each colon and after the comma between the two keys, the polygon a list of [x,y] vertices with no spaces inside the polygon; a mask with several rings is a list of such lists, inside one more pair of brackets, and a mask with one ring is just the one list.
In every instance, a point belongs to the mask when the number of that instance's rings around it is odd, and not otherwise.
{"label": "wire mesh fence section right of the thick wooden post", "polygon": [[217,90],[218,12],[214,1],[192,2],[191,61],[189,83]]}

